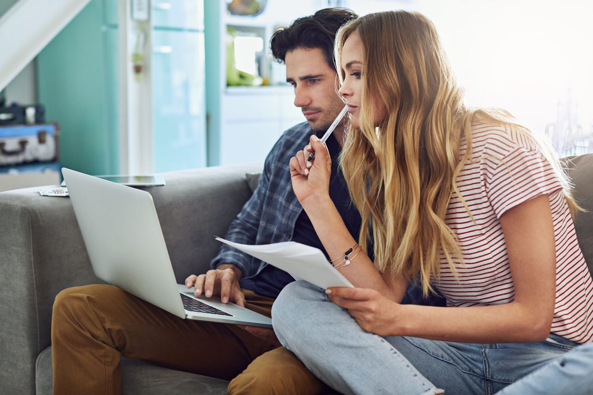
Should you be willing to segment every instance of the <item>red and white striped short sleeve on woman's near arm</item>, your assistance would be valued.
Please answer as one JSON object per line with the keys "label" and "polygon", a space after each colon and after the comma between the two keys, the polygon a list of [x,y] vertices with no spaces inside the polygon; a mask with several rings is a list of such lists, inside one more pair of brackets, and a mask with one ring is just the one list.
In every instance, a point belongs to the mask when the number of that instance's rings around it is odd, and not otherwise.
{"label": "red and white striped short sleeve on woman's near arm", "polygon": [[517,146],[486,175],[486,194],[496,217],[538,195],[562,190],[550,162],[535,149]]}

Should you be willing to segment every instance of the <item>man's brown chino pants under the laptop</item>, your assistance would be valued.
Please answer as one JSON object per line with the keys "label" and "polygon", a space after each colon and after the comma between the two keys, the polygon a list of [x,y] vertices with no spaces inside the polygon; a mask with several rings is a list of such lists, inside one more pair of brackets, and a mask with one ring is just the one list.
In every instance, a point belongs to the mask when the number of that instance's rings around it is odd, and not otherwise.
{"label": "man's brown chino pants under the laptop", "polygon": [[[270,316],[273,298],[243,290],[246,307]],[[111,285],[68,288],[52,318],[53,393],[120,394],[120,355],[232,380],[229,394],[323,394],[285,348],[235,325],[180,319]]]}

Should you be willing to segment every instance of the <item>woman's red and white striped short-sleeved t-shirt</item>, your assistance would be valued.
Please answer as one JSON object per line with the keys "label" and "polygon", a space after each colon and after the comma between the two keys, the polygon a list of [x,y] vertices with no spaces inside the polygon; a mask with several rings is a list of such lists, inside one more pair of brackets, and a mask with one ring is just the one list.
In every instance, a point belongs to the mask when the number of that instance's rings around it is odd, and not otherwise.
{"label": "woman's red and white striped short-sleeved t-shirt", "polygon": [[[473,160],[463,166],[455,182],[476,223],[455,193],[445,215],[445,223],[458,237],[465,265],[455,265],[457,281],[442,256],[441,278],[433,278],[433,284],[449,306],[512,301],[515,288],[499,218],[509,208],[547,194],[556,236],[556,305],[551,332],[579,343],[593,342],[593,282],[568,204],[560,193],[559,178],[533,140],[510,127],[477,124],[472,136]],[[462,143],[462,154],[465,149]]]}

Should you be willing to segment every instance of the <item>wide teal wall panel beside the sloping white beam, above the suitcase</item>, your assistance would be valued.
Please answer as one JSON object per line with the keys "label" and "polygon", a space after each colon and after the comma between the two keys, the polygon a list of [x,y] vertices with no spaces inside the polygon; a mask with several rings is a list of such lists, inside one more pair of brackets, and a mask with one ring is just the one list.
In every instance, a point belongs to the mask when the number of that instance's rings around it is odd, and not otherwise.
{"label": "wide teal wall panel beside the sloping white beam, above the suitcase", "polygon": [[94,175],[119,172],[113,1],[92,0],[37,57],[39,102],[60,125],[60,163]]}

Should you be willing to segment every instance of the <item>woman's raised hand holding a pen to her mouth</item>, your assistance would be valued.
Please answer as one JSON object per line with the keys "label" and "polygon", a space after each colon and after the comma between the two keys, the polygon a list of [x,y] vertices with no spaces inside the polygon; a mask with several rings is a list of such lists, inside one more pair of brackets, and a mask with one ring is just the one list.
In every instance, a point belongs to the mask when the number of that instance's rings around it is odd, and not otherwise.
{"label": "woman's raised hand holding a pen to her mouth", "polygon": [[[315,158],[307,165],[307,159],[313,151]],[[310,144],[291,158],[290,169],[292,190],[303,207],[307,201],[329,196],[331,158],[326,145],[317,136],[311,136]]]}

